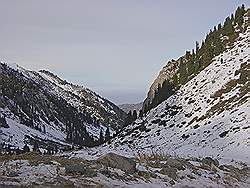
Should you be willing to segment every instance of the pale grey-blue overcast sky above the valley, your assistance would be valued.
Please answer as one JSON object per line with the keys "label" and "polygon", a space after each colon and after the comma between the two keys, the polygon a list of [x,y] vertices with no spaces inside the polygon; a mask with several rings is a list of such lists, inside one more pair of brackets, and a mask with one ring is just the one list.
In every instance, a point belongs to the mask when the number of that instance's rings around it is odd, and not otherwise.
{"label": "pale grey-blue overcast sky above the valley", "polygon": [[168,60],[248,0],[0,0],[0,59],[116,104],[144,100]]}

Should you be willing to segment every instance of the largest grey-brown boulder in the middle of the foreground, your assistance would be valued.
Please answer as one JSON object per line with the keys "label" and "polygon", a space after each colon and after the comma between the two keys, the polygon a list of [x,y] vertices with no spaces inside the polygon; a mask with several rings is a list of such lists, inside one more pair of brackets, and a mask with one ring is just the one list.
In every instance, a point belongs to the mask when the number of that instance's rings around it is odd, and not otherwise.
{"label": "largest grey-brown boulder in the middle of the foreground", "polygon": [[97,159],[97,162],[107,167],[121,169],[124,172],[136,172],[136,162],[133,159],[115,153],[108,153]]}

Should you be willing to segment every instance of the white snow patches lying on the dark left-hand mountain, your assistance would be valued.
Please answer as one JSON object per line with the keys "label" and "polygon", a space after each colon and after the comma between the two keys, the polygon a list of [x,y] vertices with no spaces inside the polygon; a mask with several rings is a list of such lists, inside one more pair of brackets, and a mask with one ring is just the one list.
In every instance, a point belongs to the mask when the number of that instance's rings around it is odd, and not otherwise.
{"label": "white snow patches lying on the dark left-hand mountain", "polygon": [[[3,63],[3,62],[1,62]],[[6,63],[5,63],[6,64]],[[101,96],[97,95],[93,91],[84,88],[82,86],[73,85],[61,80],[59,77],[45,73],[45,72],[35,72],[30,71],[22,68],[17,64],[6,64],[9,70],[15,70],[19,73],[22,73],[20,79],[24,79],[26,81],[33,82],[34,85],[37,84],[39,88],[41,88],[41,92],[46,92],[49,95],[55,96],[56,98],[60,99],[63,98],[68,104],[79,111],[79,113],[86,113],[89,114],[92,118],[98,120],[105,120],[109,119],[110,123],[113,125],[111,126],[109,123],[99,123],[98,125],[85,123],[83,126],[86,126],[86,129],[89,135],[93,136],[94,139],[98,139],[100,135],[100,130],[105,133],[107,127],[110,128],[110,133],[114,134],[115,126],[119,125],[119,116],[117,112],[115,112],[115,105],[111,105],[109,101],[102,98]],[[28,92],[28,91],[27,91]],[[1,97],[1,96],[0,96]],[[12,105],[14,102],[11,99],[3,99],[8,100]],[[41,98],[43,100],[43,98]],[[87,101],[87,102],[82,102]],[[19,109],[22,111],[21,109]],[[103,113],[106,114],[103,114]],[[50,122],[49,118],[45,115],[43,109],[41,109],[41,114],[44,115],[47,122],[44,122],[41,117],[39,117],[39,122],[35,122],[36,125],[39,127],[46,127],[46,134],[39,132],[35,129],[27,127],[25,125],[21,125],[19,118],[15,117],[15,115],[7,108],[5,109],[0,107],[0,113],[5,114],[8,117],[7,123],[9,124],[10,128],[1,128],[0,129],[0,141],[5,142],[6,144],[10,144],[15,147],[23,147],[26,136],[31,136],[32,138],[37,137],[40,139],[48,139],[58,143],[65,143],[65,128],[62,122],[58,119],[58,124],[54,122]],[[106,117],[106,115],[109,117]],[[11,137],[11,139],[9,139]]]}

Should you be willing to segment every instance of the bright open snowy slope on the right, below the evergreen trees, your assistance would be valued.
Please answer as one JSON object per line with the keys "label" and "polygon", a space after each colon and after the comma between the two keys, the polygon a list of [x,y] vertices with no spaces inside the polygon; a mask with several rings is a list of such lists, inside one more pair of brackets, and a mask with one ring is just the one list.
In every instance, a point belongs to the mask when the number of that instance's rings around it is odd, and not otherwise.
{"label": "bright open snowy slope on the right, below the evergreen trees", "polygon": [[250,27],[232,47],[174,95],[129,125],[113,142],[77,157],[107,152],[211,156],[250,164]]}

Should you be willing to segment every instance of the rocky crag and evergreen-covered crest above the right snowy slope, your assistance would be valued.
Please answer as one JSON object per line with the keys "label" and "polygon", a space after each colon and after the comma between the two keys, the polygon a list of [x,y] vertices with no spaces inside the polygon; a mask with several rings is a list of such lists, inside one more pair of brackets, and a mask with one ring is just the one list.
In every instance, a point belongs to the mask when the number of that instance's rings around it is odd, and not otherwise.
{"label": "rocky crag and evergreen-covered crest above the right snowy slope", "polygon": [[195,49],[186,51],[185,55],[177,60],[169,61],[149,88],[148,96],[143,103],[144,112],[166,100],[210,65],[215,56],[224,52],[228,46],[232,46],[239,37],[239,33],[246,29],[247,22],[244,21],[246,12],[244,5],[238,7],[235,14],[225,19],[223,25],[218,24],[210,30],[201,44],[196,41]]}

